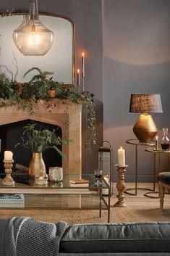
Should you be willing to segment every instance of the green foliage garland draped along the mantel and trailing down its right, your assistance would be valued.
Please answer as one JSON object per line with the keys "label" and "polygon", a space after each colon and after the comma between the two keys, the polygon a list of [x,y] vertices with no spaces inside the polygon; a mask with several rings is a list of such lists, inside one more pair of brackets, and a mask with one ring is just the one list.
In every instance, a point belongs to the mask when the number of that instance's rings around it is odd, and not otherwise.
{"label": "green foliage garland draped along the mantel and trailing down its right", "polygon": [[[17,63],[16,63],[17,65]],[[7,68],[7,67],[6,67]],[[33,67],[33,69],[38,69],[38,67]],[[9,70],[10,71],[10,70]],[[30,70],[27,71],[27,73]],[[39,72],[39,71],[38,71]],[[52,78],[46,77],[46,80],[41,79],[43,73],[39,72],[38,76],[33,77],[30,82],[18,83],[17,80],[9,80],[7,75],[4,73],[0,74],[0,107],[9,107],[12,105],[17,105],[18,110],[23,110],[29,112],[30,115],[33,115],[33,104],[44,101],[49,102],[51,98],[48,96],[48,88],[55,86],[56,97],[63,101],[63,104],[68,102],[73,102],[74,104],[82,104],[82,113],[85,115],[85,119],[88,123],[88,146],[87,149],[89,152],[92,149],[92,145],[96,142],[96,133],[95,133],[95,110],[94,110],[94,95],[90,94],[88,91],[80,93],[75,91],[74,88],[69,88],[64,86],[62,83],[52,80]],[[48,72],[45,72],[48,73]],[[26,74],[26,73],[25,73]],[[48,73],[49,74],[49,73]],[[47,74],[47,75],[48,75]],[[15,75],[16,76],[16,75]],[[12,78],[14,76],[12,75]],[[18,88],[20,88],[20,94],[18,93]],[[55,107],[55,106],[54,106]],[[52,112],[52,107],[50,111]],[[67,112],[67,105],[66,105]],[[67,120],[66,120],[67,122]]]}

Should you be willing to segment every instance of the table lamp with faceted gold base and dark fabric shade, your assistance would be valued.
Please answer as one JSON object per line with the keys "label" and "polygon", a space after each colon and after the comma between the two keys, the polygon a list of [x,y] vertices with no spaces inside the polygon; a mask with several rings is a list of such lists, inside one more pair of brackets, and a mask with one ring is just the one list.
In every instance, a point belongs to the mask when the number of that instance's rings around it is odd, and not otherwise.
{"label": "table lamp with faceted gold base and dark fabric shade", "polygon": [[133,127],[140,142],[149,143],[157,134],[156,124],[148,113],[162,113],[160,94],[131,94],[129,112],[143,113]]}

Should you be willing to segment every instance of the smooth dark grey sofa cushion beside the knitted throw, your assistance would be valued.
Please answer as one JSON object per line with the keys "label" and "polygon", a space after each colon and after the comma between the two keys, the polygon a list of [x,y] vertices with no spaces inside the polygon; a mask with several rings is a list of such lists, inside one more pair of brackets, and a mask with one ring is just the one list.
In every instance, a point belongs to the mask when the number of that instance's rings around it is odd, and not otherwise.
{"label": "smooth dark grey sofa cushion beside the knitted throw", "polygon": [[71,225],[60,252],[170,252],[170,223]]}

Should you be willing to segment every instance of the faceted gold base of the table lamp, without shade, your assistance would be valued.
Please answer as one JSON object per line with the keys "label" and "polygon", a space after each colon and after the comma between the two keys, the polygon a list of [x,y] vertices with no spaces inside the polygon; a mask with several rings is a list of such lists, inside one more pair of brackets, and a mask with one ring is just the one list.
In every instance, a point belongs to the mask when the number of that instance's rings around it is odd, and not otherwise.
{"label": "faceted gold base of the table lamp, without shade", "polygon": [[158,131],[151,115],[144,114],[137,119],[133,132],[140,142],[149,143]]}

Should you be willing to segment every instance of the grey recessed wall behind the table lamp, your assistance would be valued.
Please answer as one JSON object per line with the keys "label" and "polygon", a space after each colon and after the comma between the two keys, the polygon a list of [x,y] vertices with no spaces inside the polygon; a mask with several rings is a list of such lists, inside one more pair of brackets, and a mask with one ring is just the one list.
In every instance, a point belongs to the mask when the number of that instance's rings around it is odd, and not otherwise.
{"label": "grey recessed wall behind the table lamp", "polygon": [[[135,138],[132,126],[138,118],[129,113],[130,94],[161,94],[163,114],[153,115],[159,138],[163,127],[170,128],[169,28],[169,0],[103,0],[104,139],[114,146],[115,162],[116,149],[126,149],[127,181],[134,181],[135,146],[125,141]],[[151,181],[153,155],[144,149],[139,181]]]}

